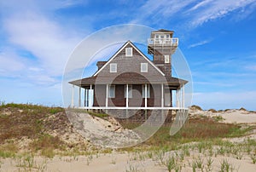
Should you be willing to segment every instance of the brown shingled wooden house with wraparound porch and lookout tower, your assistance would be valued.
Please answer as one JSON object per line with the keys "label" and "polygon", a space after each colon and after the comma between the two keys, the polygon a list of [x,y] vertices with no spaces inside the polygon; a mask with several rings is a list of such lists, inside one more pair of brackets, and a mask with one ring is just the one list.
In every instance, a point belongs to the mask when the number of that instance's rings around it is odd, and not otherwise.
{"label": "brown shingled wooden house with wraparound porch and lookout tower", "polygon": [[[163,29],[151,32],[148,54],[153,55],[153,60],[127,41],[108,61],[97,62],[98,70],[93,76],[69,82],[79,87],[79,107],[95,110],[184,108],[187,81],[172,77],[172,54],[178,45],[178,39],[172,35],[172,31]],[[81,89],[84,89],[83,106]],[[176,92],[176,106],[172,106],[172,92]]]}

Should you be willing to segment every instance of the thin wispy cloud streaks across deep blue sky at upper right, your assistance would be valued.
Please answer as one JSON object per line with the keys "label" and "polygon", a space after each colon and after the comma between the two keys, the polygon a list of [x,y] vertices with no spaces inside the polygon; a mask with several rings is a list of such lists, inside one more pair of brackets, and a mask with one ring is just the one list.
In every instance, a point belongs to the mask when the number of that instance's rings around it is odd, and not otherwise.
{"label": "thin wispy cloud streaks across deep blue sky at upper right", "polygon": [[[151,19],[150,22],[165,24],[165,21],[172,21],[173,18],[182,20],[189,27],[201,26],[210,20],[217,20],[230,14],[233,11],[245,11],[245,8],[251,7],[246,13],[242,13],[242,18],[246,17],[255,9],[255,0],[163,0],[155,3],[149,0],[140,9],[136,18],[131,22],[141,22]],[[236,20],[242,19],[241,15]]]}

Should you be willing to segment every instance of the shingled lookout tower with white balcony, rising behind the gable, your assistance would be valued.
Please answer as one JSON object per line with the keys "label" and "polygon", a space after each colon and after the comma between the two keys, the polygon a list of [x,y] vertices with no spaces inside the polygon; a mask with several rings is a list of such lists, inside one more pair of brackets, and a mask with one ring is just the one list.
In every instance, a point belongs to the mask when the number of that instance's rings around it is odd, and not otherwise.
{"label": "shingled lookout tower with white balcony, rising behind the gable", "polygon": [[153,54],[153,62],[166,76],[172,76],[172,54],[177,49],[178,38],[173,31],[160,29],[151,32],[148,39],[148,54]]}

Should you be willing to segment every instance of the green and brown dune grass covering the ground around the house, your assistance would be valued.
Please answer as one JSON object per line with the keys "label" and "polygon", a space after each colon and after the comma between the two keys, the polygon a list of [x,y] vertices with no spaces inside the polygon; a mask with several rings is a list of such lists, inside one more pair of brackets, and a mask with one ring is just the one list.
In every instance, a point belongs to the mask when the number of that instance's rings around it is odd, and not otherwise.
{"label": "green and brown dune grass covering the ground around the house", "polygon": [[[199,108],[195,106],[195,108]],[[99,118],[108,118],[107,114],[90,112]],[[52,118],[55,118],[52,120]],[[234,171],[236,164],[228,159],[217,161],[218,156],[248,159],[256,163],[256,140],[247,139],[240,143],[233,143],[224,138],[247,135],[255,126],[239,125],[235,123],[218,123],[223,118],[193,116],[183,125],[176,135],[169,135],[170,126],[163,125],[149,140],[130,148],[119,149],[128,152],[126,171],[141,171],[137,162],[147,159],[164,167],[167,171]],[[0,106],[0,167],[1,158],[14,158],[15,164],[21,171],[44,171],[47,158],[60,155],[63,160],[70,162],[79,159],[79,155],[86,157],[87,165],[101,156],[100,153],[111,153],[111,149],[87,150],[86,145],[68,146],[57,135],[49,135],[47,129],[55,127],[67,128],[67,117],[61,107],[45,107],[30,104],[5,104]],[[127,129],[136,128],[139,123],[121,123]],[[19,152],[16,140],[31,139],[27,152]],[[84,150],[84,151],[81,151]],[[37,162],[37,155],[43,155],[45,161]],[[69,156],[69,158],[64,158]],[[188,160],[189,158],[189,160]],[[112,157],[111,164],[115,165],[118,158]],[[143,170],[142,170],[143,171]]]}

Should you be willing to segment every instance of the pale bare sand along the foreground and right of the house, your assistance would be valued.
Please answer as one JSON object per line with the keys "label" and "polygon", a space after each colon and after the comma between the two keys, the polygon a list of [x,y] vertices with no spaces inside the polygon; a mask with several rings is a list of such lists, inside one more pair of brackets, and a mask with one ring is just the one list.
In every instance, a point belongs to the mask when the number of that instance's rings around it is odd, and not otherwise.
{"label": "pale bare sand along the foreground and right of the house", "polygon": [[[203,114],[207,116],[222,116],[224,123],[256,123],[256,113],[230,110],[227,112],[192,112],[192,114]],[[250,135],[256,138],[256,131]],[[242,138],[235,138],[235,141]],[[169,152],[172,154],[172,152]],[[212,171],[220,171],[221,163],[226,160],[230,164],[233,171],[256,171],[256,164],[252,163],[252,159],[247,155],[242,155],[241,159],[237,159],[234,155],[209,156],[196,150],[190,152],[189,157],[183,160],[182,171],[192,171],[192,163],[196,159],[201,158],[204,167],[207,166],[207,158],[212,158]],[[22,167],[22,162],[26,160],[22,158],[0,158],[0,171],[27,171],[29,169]],[[34,158],[32,160],[31,171],[91,171],[91,172],[119,172],[119,171],[168,171],[166,166],[160,164],[160,158],[156,154],[152,158],[148,158],[148,152],[144,153],[120,153],[113,152],[110,154],[97,154],[79,157],[55,157],[55,158]],[[26,165],[27,166],[27,165]],[[201,169],[196,169],[201,171]],[[230,170],[231,171],[231,170]]]}

